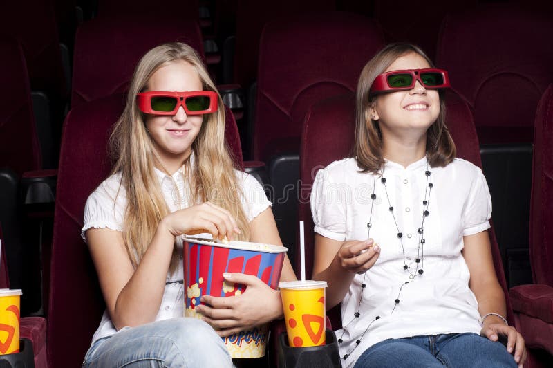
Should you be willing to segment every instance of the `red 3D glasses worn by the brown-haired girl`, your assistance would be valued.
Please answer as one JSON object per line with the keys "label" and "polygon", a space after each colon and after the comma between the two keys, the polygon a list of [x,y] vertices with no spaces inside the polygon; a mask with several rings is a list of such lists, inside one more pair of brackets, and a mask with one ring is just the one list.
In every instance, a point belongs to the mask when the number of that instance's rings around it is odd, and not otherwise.
{"label": "red 3D glasses worn by the brown-haired girl", "polygon": [[388,71],[378,75],[371,86],[370,93],[393,92],[412,89],[419,81],[426,89],[449,88],[449,77],[443,69],[407,69]]}

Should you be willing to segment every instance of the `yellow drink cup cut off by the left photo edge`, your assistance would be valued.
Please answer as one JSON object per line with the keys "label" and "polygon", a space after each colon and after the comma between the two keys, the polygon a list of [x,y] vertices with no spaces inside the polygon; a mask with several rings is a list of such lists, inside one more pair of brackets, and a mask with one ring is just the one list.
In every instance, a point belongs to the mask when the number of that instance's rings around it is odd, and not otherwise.
{"label": "yellow drink cup cut off by the left photo edge", "polygon": [[0,355],[19,353],[21,289],[0,289]]}

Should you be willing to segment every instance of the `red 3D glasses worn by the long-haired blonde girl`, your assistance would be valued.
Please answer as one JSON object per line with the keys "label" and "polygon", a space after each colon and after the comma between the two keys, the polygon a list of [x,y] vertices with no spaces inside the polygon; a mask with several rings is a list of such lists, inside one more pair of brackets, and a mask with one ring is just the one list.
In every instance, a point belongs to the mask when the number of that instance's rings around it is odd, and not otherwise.
{"label": "red 3D glasses worn by the long-haired blonde girl", "polygon": [[203,115],[217,111],[218,99],[213,91],[151,91],[138,93],[136,100],[143,113],[175,115],[182,106],[187,115]]}

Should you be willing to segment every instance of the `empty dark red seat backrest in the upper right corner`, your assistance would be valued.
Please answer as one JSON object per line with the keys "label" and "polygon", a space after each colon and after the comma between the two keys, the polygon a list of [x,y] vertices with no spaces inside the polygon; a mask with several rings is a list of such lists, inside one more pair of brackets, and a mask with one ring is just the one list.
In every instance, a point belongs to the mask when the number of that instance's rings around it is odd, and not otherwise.
{"label": "empty dark red seat backrest in the upper right corner", "polygon": [[474,112],[482,143],[532,142],[534,113],[553,82],[550,15],[485,4],[447,15],[436,64]]}

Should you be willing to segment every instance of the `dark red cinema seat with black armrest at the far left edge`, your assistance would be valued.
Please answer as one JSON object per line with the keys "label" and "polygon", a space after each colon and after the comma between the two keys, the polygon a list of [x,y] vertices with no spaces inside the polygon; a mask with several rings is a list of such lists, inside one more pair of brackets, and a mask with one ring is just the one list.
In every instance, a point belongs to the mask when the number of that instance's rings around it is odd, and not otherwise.
{"label": "dark red cinema seat with black armrest at the far left edge", "polygon": [[42,205],[49,201],[53,208],[53,192],[48,184],[55,181],[55,170],[40,170],[41,147],[22,46],[15,38],[3,35],[0,55],[4,70],[0,75],[0,222],[10,244],[6,252],[12,285],[26,291],[22,297],[26,315],[39,311],[41,306],[36,242],[41,235],[39,226],[26,216],[30,210],[26,203],[41,201]]}

